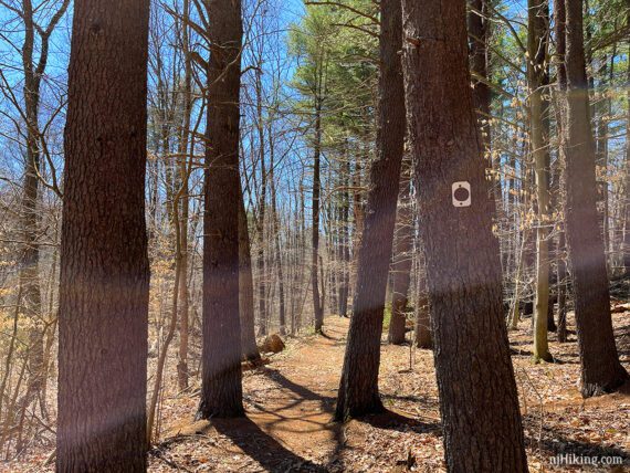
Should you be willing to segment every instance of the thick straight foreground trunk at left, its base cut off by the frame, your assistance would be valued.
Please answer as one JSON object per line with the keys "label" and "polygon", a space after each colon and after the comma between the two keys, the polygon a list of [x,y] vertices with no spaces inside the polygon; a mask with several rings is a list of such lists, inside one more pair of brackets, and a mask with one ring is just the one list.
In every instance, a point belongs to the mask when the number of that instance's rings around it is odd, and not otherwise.
{"label": "thick straight foreground trunk at left, its base cut off by the frame", "polygon": [[56,469],[144,472],[149,2],[76,0],[73,18]]}

